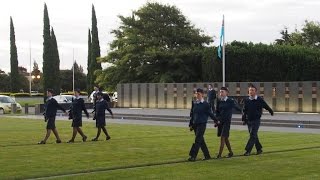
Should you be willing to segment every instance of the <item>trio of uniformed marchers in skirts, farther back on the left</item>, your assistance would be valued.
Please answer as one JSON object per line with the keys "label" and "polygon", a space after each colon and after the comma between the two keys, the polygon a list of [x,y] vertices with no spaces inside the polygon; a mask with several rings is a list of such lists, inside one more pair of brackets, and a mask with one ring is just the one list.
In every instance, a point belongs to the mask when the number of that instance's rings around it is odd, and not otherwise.
{"label": "trio of uniformed marchers in skirts, farther back on the left", "polygon": [[[87,136],[83,133],[81,127],[82,127],[82,111],[86,114],[87,118],[89,118],[89,113],[85,107],[84,100],[80,97],[80,90],[76,89],[74,91],[74,99],[71,103],[69,112],[66,111],[63,107],[61,107],[58,102],[53,98],[53,90],[48,89],[47,90],[47,99],[45,102],[44,107],[44,118],[47,122],[47,132],[45,135],[45,138],[38,142],[38,144],[46,144],[51,131],[54,133],[56,137],[56,143],[61,143],[61,139],[59,137],[55,120],[56,120],[56,114],[57,110],[62,110],[66,115],[69,116],[69,119],[72,119],[71,127],[73,128],[73,133],[71,139],[68,141],[68,143],[73,143],[75,140],[75,137],[77,133],[79,133],[82,136],[82,141],[85,142],[87,140]],[[96,127],[98,128],[97,135],[95,138],[92,139],[92,141],[98,141],[98,138],[101,133],[101,129],[106,135],[106,140],[109,140],[111,137],[107,132],[106,129],[106,118],[105,118],[105,110],[108,110],[113,118],[113,113],[111,109],[108,106],[108,102],[103,99],[103,93],[101,91],[97,91],[94,93],[94,120],[96,120]]]}

